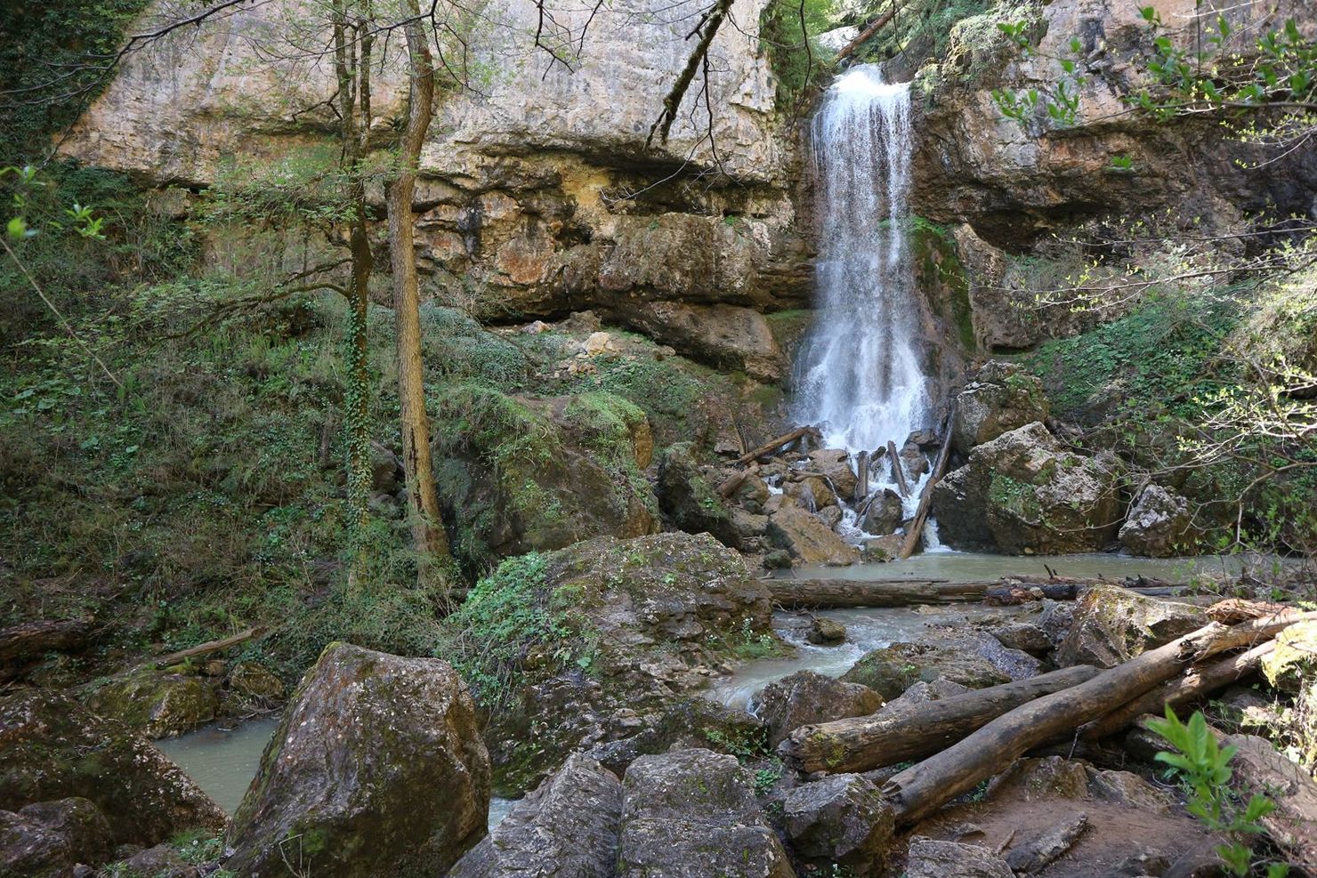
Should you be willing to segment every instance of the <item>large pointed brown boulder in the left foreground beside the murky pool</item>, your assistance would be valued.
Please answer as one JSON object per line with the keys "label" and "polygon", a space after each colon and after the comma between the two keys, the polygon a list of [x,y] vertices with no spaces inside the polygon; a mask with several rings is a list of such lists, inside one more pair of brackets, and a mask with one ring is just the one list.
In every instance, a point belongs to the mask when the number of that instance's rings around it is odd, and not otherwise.
{"label": "large pointed brown boulder in the left foreground beside the murky pool", "polygon": [[446,662],[331,644],[233,815],[225,867],[443,874],[485,835],[489,799],[475,706]]}

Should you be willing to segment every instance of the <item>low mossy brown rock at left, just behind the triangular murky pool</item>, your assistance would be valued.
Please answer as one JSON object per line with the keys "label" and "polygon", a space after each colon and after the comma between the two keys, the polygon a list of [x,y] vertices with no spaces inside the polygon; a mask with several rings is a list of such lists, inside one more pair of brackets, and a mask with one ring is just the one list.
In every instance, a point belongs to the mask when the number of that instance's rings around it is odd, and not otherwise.
{"label": "low mossy brown rock at left, just behind the triangular murky pool", "polygon": [[111,679],[87,699],[87,707],[155,738],[209,723],[220,698],[215,682],[202,677],[138,671]]}

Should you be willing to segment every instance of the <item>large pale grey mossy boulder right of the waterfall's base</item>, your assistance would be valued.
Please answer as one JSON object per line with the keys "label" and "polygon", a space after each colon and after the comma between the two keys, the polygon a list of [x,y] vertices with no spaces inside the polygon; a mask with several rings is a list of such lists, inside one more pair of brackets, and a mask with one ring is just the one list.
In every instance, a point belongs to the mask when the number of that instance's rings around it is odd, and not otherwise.
{"label": "large pale grey mossy boulder right of the waterfall's base", "polygon": [[1035,421],[980,445],[934,487],[932,515],[955,549],[1097,552],[1121,523],[1114,457],[1081,457]]}

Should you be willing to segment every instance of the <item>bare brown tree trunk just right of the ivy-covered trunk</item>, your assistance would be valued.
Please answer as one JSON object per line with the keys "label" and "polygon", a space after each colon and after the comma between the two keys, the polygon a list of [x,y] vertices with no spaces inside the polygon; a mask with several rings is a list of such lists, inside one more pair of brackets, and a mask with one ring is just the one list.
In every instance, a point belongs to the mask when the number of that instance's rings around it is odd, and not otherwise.
{"label": "bare brown tree trunk just right of the ivy-covered trunk", "polygon": [[[435,490],[429,450],[429,416],[425,412],[425,363],[420,348],[420,284],[416,276],[415,219],[416,166],[425,143],[435,101],[435,66],[428,37],[419,20],[416,0],[407,0],[404,26],[410,59],[411,100],[407,126],[399,142],[400,171],[387,187],[389,253],[394,280],[394,317],[398,326],[398,401],[402,409],[403,471],[407,478],[407,512],[412,541],[420,553],[420,575],[431,579],[436,563],[446,567],[448,536],[444,533]],[[440,577],[444,577],[440,573]]]}

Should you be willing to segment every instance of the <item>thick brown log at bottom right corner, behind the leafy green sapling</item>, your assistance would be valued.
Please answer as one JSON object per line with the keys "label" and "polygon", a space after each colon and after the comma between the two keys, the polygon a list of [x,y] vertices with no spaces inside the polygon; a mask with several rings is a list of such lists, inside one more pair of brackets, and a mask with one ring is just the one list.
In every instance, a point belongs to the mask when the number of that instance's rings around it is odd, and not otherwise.
{"label": "thick brown log at bottom right corner, behind the leafy green sapling", "polygon": [[[1151,731],[1152,719],[1158,717],[1142,716],[1137,724]],[[1301,766],[1277,753],[1271,741],[1208,728],[1222,746],[1235,748],[1231,777],[1246,796],[1260,792],[1275,803],[1276,808],[1258,823],[1289,854],[1291,866],[1303,869],[1301,874],[1317,874],[1317,783]]]}

